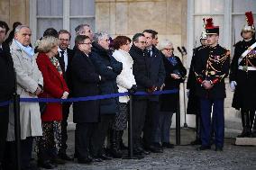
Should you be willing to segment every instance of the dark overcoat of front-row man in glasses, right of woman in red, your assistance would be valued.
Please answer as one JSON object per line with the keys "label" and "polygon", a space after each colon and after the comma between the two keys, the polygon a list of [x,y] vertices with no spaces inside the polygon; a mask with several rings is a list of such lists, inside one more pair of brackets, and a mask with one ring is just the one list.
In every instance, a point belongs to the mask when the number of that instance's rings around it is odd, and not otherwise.
{"label": "dark overcoat of front-row man in glasses, right of woman in red", "polygon": [[[85,53],[78,50],[71,63],[71,75],[74,97],[87,97],[100,94],[99,75],[96,67],[91,61],[91,54],[87,57]],[[99,101],[86,101],[73,103],[74,122],[98,122]]]}

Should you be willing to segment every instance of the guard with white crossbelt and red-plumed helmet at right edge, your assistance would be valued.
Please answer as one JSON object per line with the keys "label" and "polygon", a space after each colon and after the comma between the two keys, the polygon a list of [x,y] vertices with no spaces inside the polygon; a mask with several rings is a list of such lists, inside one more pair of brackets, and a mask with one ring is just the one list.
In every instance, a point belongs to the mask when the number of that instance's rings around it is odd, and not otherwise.
{"label": "guard with white crossbelt and red-plumed helmet at right edge", "polygon": [[[230,82],[233,108],[241,110],[242,134],[238,138],[251,137],[256,110],[256,40],[251,12],[245,13],[247,23],[241,31],[242,39],[235,44],[231,63]],[[254,135],[252,135],[255,137]]]}

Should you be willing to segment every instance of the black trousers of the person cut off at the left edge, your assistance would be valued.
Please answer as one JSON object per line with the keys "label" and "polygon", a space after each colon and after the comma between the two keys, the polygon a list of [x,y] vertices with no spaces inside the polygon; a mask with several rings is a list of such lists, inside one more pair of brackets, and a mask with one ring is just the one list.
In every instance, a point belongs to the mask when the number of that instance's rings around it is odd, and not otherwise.
{"label": "black trousers of the person cut off at the left edge", "polygon": [[5,153],[5,140],[8,131],[9,105],[0,107],[0,164]]}

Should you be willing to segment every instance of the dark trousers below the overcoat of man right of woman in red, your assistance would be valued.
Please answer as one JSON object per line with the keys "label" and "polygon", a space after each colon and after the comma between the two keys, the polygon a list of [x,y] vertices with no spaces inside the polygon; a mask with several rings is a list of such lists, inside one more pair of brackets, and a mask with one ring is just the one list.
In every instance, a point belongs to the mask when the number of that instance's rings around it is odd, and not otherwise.
{"label": "dark trousers below the overcoat of man right of woman in red", "polygon": [[90,140],[97,123],[77,123],[75,130],[75,150],[78,159],[89,156]]}

